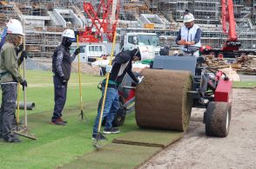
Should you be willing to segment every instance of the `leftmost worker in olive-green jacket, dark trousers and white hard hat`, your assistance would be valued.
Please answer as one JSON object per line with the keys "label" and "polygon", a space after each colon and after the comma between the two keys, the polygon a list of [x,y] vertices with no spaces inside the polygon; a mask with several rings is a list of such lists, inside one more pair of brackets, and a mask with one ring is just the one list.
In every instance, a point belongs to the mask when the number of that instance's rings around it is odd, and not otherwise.
{"label": "leftmost worker in olive-green jacket, dark trousers and white hard hat", "polygon": [[17,59],[17,49],[24,36],[23,26],[17,19],[11,19],[7,23],[7,35],[0,52],[0,82],[2,88],[2,104],[0,109],[0,136],[6,142],[21,142],[16,134],[11,133],[17,101],[17,82],[23,88],[27,87],[27,81],[18,72],[18,64],[27,58],[27,52],[23,51]]}

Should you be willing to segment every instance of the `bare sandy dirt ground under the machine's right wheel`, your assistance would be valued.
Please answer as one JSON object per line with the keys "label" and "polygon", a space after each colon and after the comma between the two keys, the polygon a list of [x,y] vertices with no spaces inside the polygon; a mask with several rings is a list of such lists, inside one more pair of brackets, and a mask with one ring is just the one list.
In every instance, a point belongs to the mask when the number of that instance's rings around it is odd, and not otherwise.
{"label": "bare sandy dirt ground under the machine's right wheel", "polygon": [[141,166],[145,168],[256,168],[256,88],[233,89],[226,138],[205,136],[203,110],[193,109],[185,136]]}

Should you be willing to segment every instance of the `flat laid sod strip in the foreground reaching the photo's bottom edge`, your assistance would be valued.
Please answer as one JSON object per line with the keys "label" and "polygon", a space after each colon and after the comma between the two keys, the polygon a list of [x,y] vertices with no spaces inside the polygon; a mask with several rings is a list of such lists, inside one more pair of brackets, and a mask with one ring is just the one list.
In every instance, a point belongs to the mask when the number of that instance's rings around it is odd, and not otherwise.
{"label": "flat laid sod strip in the foreground reaching the photo's bottom edge", "polygon": [[160,147],[111,143],[98,151],[85,154],[83,157],[59,168],[134,168],[142,165],[161,150],[162,148]]}

